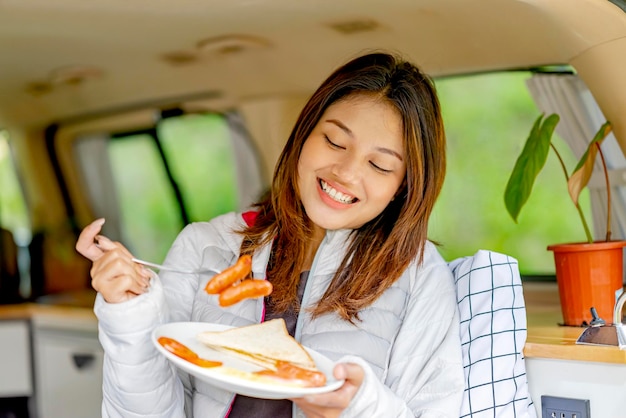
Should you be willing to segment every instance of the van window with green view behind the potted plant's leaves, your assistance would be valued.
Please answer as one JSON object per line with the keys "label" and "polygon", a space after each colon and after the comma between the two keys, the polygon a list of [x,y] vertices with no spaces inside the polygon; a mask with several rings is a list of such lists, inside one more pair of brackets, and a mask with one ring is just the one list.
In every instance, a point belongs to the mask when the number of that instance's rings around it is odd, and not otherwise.
{"label": "van window with green view behind the potted plant's leaves", "polygon": [[[436,80],[448,164],[429,235],[441,244],[448,260],[489,249],[517,258],[525,276],[553,275],[553,254],[547,246],[584,240],[563,171],[552,152],[517,224],[504,206],[509,174],[540,114],[526,89],[530,76],[506,72]],[[567,144],[558,137],[555,144],[566,165],[574,167]],[[590,213],[586,189],[580,202],[583,211]]]}

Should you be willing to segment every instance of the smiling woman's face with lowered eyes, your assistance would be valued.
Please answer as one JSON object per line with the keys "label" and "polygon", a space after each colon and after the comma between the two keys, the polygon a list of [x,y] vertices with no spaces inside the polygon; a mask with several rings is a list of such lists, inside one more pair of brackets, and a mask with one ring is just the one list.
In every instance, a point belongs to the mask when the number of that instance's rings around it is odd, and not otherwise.
{"label": "smiling woman's face with lowered eyes", "polygon": [[322,229],[355,229],[378,216],[406,174],[402,121],[390,104],[357,95],[329,106],[298,162],[304,209]]}

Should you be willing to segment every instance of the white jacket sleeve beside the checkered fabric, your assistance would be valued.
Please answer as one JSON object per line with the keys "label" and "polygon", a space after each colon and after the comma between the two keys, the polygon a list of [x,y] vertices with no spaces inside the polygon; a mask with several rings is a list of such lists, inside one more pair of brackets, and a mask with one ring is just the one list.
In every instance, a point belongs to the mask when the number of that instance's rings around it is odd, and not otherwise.
{"label": "white jacket sleeve beside the checkered fabric", "polygon": [[385,382],[360,358],[365,378],[341,415],[352,417],[458,418],[464,389],[456,292],[440,263],[415,280],[407,314],[394,341]]}

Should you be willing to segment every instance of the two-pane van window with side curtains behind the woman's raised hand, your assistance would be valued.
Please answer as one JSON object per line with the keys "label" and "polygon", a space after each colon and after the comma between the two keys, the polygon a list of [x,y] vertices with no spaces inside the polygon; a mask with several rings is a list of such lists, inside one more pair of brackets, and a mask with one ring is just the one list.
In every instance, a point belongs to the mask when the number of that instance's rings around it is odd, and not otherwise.
{"label": "two-pane van window with side curtains behind the woman's raised hand", "polygon": [[[250,204],[242,201],[241,184],[253,186],[256,199],[264,187],[261,166],[237,123],[218,113],[182,114],[153,127],[80,136],[74,154],[82,187],[95,216],[113,227],[104,233],[137,257],[161,262],[186,224]],[[91,160],[93,142],[105,143],[106,158]],[[253,164],[242,169],[242,159]],[[106,190],[113,191],[105,199]]]}

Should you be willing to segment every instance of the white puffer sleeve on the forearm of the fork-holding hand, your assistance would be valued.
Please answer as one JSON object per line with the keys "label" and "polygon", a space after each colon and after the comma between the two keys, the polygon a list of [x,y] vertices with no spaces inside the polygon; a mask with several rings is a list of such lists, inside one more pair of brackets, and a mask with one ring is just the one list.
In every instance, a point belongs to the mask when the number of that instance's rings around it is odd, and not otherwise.
{"label": "white puffer sleeve on the forearm of the fork-holding hand", "polygon": [[151,341],[152,330],[168,321],[158,277],[127,302],[108,304],[98,295],[94,311],[104,348],[102,416],[184,417],[183,384]]}

